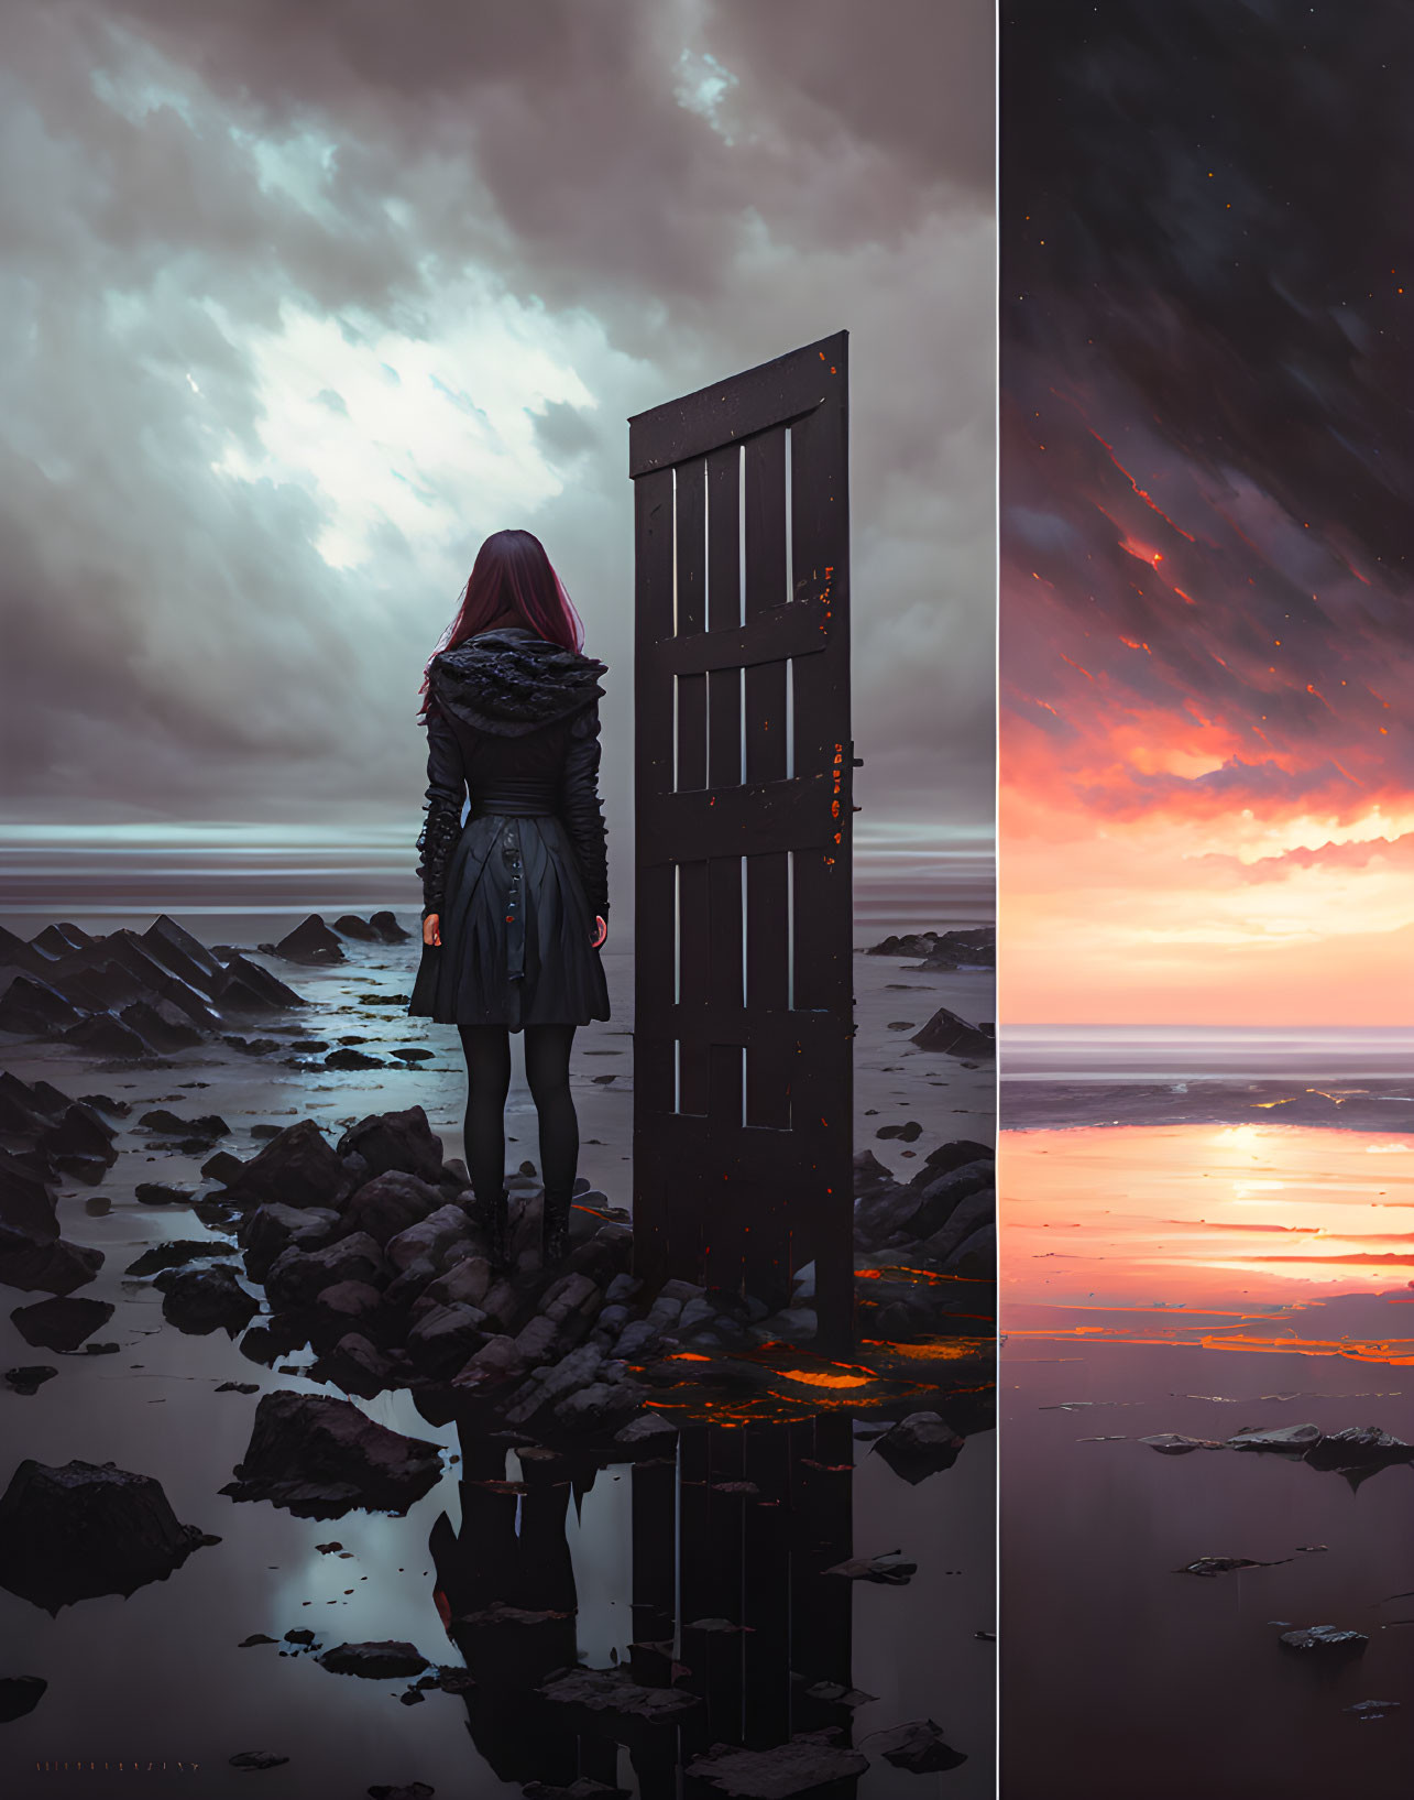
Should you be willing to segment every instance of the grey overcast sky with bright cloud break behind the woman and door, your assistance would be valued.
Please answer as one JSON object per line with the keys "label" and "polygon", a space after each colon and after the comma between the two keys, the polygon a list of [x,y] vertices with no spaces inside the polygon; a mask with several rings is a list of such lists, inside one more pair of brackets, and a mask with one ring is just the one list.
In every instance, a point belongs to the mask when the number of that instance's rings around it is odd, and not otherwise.
{"label": "grey overcast sky with bright cloud break behind the woman and door", "polygon": [[480,540],[610,664],[626,418],[851,333],[860,824],[993,801],[986,0],[9,0],[9,821],[421,823]]}

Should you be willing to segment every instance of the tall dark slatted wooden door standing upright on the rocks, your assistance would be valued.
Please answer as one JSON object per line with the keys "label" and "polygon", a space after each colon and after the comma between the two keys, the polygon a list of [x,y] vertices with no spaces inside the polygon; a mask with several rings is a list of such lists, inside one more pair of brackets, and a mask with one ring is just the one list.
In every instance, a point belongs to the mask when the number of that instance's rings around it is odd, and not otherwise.
{"label": "tall dark slatted wooden door standing upright on the rocks", "polygon": [[640,1273],[853,1316],[847,333],[630,421]]}

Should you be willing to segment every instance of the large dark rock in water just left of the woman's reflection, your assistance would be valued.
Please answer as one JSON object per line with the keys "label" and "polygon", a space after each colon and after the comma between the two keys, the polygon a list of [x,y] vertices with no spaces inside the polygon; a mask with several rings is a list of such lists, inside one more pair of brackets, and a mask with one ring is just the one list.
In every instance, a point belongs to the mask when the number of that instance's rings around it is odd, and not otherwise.
{"label": "large dark rock in water just left of the woman's reflection", "polygon": [[441,1449],[367,1418],[351,1400],[277,1388],[261,1397],[236,1480],[236,1499],[270,1499],[299,1517],[353,1507],[405,1512],[441,1474]]}

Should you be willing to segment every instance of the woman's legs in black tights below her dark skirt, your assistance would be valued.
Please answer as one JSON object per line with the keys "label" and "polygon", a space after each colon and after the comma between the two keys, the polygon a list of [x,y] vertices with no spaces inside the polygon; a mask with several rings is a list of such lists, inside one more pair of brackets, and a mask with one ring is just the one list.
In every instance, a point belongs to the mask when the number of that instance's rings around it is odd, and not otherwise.
{"label": "woman's legs in black tights below her dark skirt", "polygon": [[[466,1172],[479,1201],[506,1184],[506,1096],[511,1033],[504,1024],[457,1026],[466,1057]],[[570,1094],[572,1024],[525,1026],[525,1078],[540,1118],[540,1174],[547,1193],[568,1193],[579,1163],[579,1120]]]}

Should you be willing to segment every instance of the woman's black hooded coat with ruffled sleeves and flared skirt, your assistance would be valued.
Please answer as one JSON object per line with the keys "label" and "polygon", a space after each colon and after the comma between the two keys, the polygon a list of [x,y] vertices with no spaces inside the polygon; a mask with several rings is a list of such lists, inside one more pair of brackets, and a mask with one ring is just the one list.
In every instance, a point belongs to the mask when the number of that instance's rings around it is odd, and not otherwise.
{"label": "woman's black hooded coat with ruffled sleeves and flared skirt", "polygon": [[511,1030],[610,1017],[590,941],[608,918],[603,673],[529,626],[434,657],[417,871],[443,941],[423,947],[410,1013]]}

